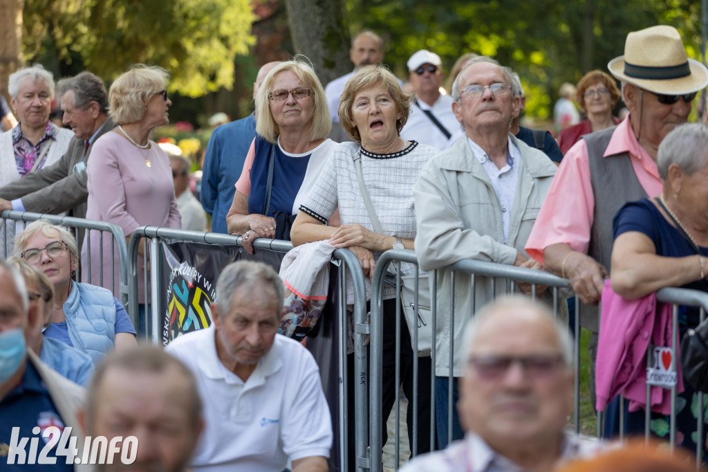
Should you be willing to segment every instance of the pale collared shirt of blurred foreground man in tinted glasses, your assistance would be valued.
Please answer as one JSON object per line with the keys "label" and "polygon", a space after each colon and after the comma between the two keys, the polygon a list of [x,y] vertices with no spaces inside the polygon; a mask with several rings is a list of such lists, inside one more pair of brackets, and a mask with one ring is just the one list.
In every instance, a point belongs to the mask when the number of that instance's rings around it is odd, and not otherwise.
{"label": "pale collared shirt of blurred foreground man in tinted glasses", "polygon": [[[559,460],[588,457],[604,449],[605,444],[595,439],[581,439],[565,434]],[[455,441],[447,449],[413,458],[401,472],[526,472],[486,444],[472,432]]]}

